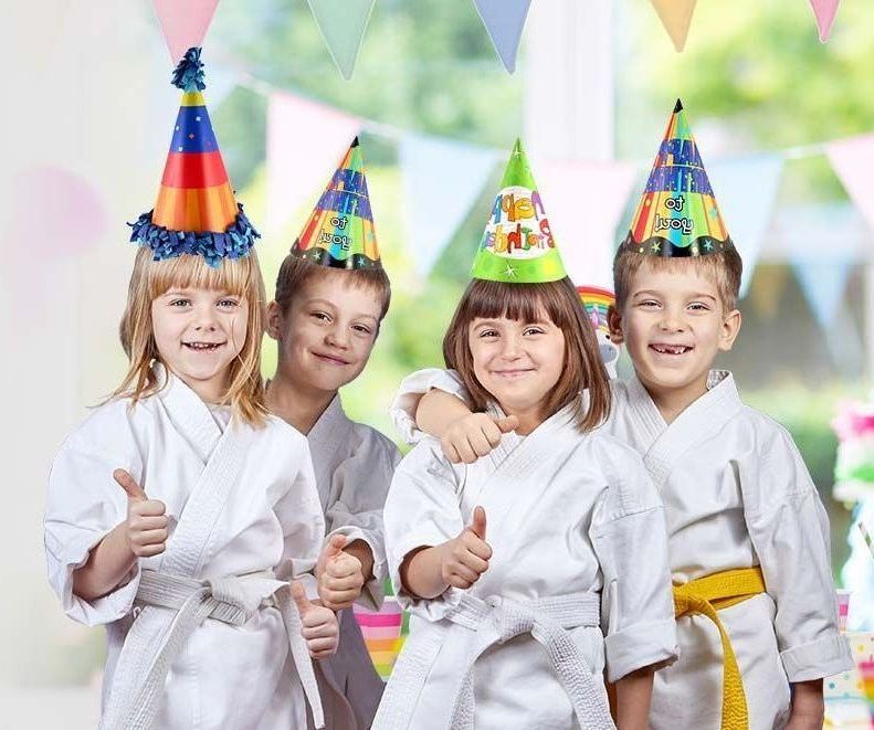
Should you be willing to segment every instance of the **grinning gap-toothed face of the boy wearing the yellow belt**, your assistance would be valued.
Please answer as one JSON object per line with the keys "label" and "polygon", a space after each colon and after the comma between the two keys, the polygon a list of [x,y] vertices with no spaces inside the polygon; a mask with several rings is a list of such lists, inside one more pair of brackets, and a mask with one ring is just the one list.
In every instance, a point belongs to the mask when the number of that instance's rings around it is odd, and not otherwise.
{"label": "grinning gap-toothed face of the boy wearing the yellow belt", "polygon": [[621,313],[611,313],[611,339],[625,342],[634,370],[651,394],[707,389],[719,350],[730,350],[740,313],[725,311],[716,283],[684,267],[635,274]]}

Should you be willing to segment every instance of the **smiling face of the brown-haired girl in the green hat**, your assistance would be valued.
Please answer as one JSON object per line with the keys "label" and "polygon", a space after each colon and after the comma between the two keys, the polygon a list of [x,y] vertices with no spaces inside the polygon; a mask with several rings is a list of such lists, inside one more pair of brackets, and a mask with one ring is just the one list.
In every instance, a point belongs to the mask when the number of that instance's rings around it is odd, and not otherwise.
{"label": "smiling face of the brown-haired girl in the green hat", "polygon": [[561,375],[565,336],[544,314],[538,321],[474,319],[467,330],[476,379],[505,413],[534,414],[539,423]]}

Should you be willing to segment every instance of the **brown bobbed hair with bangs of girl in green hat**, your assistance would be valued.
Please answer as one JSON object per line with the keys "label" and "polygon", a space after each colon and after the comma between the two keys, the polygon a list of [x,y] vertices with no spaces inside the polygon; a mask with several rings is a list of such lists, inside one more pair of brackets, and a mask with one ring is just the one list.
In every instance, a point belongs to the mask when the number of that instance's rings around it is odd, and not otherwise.
{"label": "brown bobbed hair with bangs of girl in green hat", "polygon": [[[589,322],[577,290],[565,277],[548,284],[504,284],[473,279],[462,295],[443,338],[443,359],[453,368],[471,395],[475,411],[484,411],[492,400],[488,391],[476,379],[473,355],[468,343],[468,328],[477,317],[536,321],[548,315],[565,335],[562,375],[549,395],[547,413],[554,415],[573,403],[575,419],[580,431],[591,431],[610,414],[610,384],[598,350],[594,329]],[[589,391],[583,411],[580,392]]]}

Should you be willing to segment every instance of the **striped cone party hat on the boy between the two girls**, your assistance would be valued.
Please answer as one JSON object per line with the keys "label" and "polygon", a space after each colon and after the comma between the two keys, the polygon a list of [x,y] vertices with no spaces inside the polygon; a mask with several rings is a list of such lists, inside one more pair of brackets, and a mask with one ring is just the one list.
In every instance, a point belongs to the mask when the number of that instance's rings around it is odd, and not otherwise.
{"label": "striped cone party hat on the boy between the two girls", "polygon": [[318,199],[292,253],[335,268],[381,268],[358,137]]}

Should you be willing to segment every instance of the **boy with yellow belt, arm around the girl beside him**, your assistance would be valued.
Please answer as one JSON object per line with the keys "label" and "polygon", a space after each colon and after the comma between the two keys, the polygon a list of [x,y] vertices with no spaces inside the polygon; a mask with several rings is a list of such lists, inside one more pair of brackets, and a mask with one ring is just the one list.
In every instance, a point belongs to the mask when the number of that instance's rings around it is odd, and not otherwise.
{"label": "boy with yellow belt, arm around the girl beside him", "polygon": [[[852,666],[828,519],[801,456],[730,373],[710,370],[740,328],[740,266],[677,102],[615,257],[610,315],[635,374],[615,383],[608,429],[643,456],[667,517],[681,658],[656,673],[656,729],[819,728],[822,678]],[[454,420],[446,441],[482,431],[471,416],[433,421],[430,398],[420,414],[438,432]]]}

